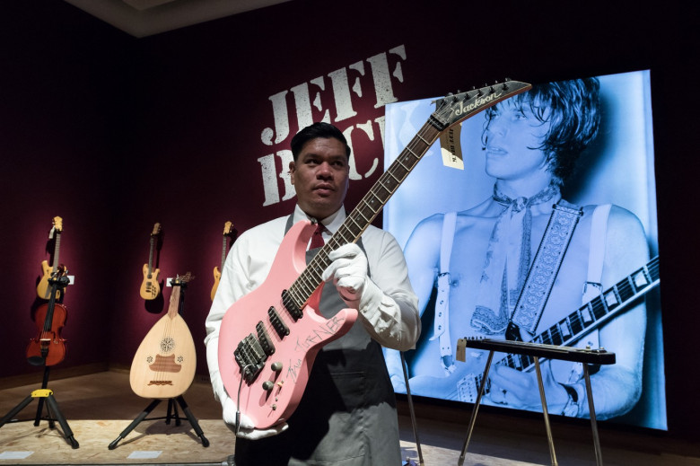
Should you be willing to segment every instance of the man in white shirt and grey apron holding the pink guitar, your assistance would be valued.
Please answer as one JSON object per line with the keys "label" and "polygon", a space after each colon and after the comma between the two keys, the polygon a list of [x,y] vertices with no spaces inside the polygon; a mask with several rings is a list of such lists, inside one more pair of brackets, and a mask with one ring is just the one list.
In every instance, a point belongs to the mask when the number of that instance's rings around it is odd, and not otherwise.
{"label": "man in white shirt and grey apron holding the pink guitar", "polygon": [[[346,219],[350,147],[327,123],[305,127],[292,139],[289,165],[297,205],[280,217],[242,233],[224,264],[221,284],[206,319],[206,354],[214,396],[223,419],[236,422],[235,394],[227,393],[219,374],[217,343],[226,310],[263,283],[276,251],[292,224],[316,220],[324,239]],[[307,253],[307,259],[312,254]],[[248,464],[399,464],[398,421],[394,393],[381,345],[414,347],[420,332],[417,298],[408,281],[398,243],[370,225],[357,243],[348,243],[328,258],[322,278],[327,284],[320,312],[326,318],[343,308],[359,317],[351,330],[316,356],[302,400],[281,426],[252,428],[242,413],[235,461]],[[232,400],[233,399],[233,400]]]}

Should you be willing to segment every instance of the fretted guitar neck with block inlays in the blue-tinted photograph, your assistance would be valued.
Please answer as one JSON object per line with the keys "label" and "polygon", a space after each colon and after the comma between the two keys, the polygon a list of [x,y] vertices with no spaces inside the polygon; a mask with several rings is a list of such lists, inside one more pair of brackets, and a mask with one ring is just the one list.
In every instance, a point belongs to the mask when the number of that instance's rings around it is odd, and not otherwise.
{"label": "fretted guitar neck with block inlays in the blue-tinted photograph", "polygon": [[[651,259],[643,268],[634,271],[611,286],[589,303],[556,322],[532,339],[533,343],[554,346],[571,346],[592,330],[599,328],[629,303],[659,285],[659,256]],[[509,354],[497,363],[512,369],[529,371],[535,364],[532,356]]]}

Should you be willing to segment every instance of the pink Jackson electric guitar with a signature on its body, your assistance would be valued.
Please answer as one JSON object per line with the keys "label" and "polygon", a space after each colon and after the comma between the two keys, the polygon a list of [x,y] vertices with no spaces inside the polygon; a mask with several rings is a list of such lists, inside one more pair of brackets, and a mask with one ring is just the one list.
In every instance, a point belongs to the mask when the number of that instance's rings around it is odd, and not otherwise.
{"label": "pink Jackson electric guitar with a signature on its body", "polygon": [[256,427],[274,426],[292,415],[320,348],[345,335],[357,319],[353,309],[328,320],[317,311],[328,253],[360,238],[443,131],[530,87],[506,81],[436,101],[437,110],[308,266],[306,245],[315,226],[299,222],[284,236],[269,276],[232,304],[219,334],[223,384]]}

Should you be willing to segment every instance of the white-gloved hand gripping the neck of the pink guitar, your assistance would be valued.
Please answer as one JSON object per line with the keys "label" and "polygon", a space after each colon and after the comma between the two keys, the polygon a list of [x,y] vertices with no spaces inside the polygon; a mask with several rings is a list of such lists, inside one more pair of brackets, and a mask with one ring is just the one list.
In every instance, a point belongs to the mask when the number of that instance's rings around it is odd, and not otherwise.
{"label": "white-gloved hand gripping the neck of the pink guitar", "polygon": [[350,242],[328,254],[333,262],[323,271],[323,281],[333,278],[333,284],[346,302],[359,301],[367,284],[367,257],[363,250]]}

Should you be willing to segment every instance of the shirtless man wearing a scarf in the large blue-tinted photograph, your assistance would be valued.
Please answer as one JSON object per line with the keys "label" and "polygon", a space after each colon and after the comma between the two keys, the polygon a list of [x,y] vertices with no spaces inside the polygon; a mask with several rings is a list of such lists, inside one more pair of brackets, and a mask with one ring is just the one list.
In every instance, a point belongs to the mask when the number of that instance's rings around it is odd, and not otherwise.
{"label": "shirtless man wearing a scarf in the large blue-tinted photograph", "polygon": [[[482,142],[486,172],[495,179],[494,195],[456,215],[424,219],[405,248],[422,310],[433,284],[443,280],[445,294],[437,297],[433,330],[426,330],[426,337],[433,338],[420,344],[412,358],[413,393],[473,400],[474,376],[483,372],[486,356],[468,350],[466,363],[455,361],[457,339],[534,339],[646,263],[646,237],[634,214],[617,206],[584,206],[579,217],[579,207],[560,200],[560,187],[598,127],[597,79],[539,84],[486,110]],[[557,203],[561,209],[553,209]],[[547,267],[545,261],[534,266],[533,261],[555,210],[577,219],[571,222],[571,242],[560,250],[556,248],[565,246],[544,242],[543,251],[554,249],[564,259],[558,274],[554,270],[556,280],[544,307],[532,300],[531,327],[517,325],[523,316],[514,311],[529,269]],[[591,376],[599,418],[622,415],[639,400],[645,322],[644,304],[638,302],[580,340],[617,356],[617,364],[601,366]],[[494,361],[504,355],[498,356]],[[389,372],[397,391],[405,391],[397,358],[388,356]],[[582,367],[552,361],[543,370],[549,411],[588,416]],[[495,365],[490,379],[486,403],[541,409],[534,371]]]}

